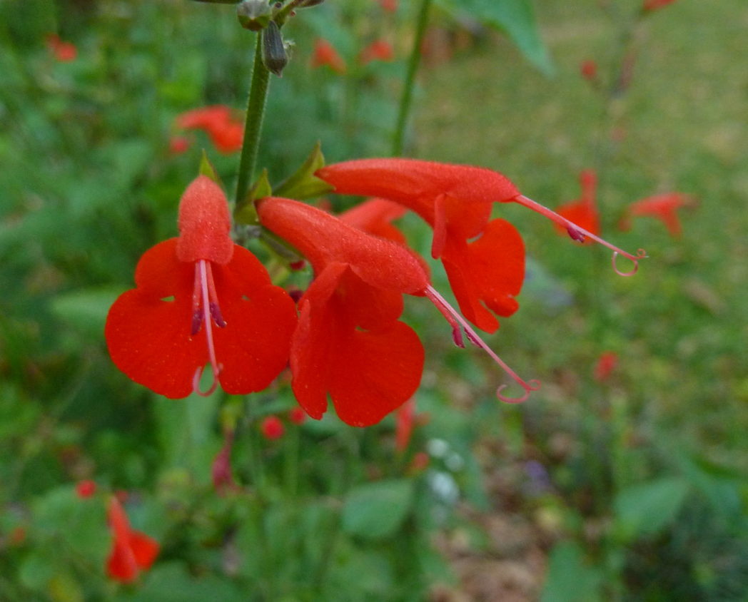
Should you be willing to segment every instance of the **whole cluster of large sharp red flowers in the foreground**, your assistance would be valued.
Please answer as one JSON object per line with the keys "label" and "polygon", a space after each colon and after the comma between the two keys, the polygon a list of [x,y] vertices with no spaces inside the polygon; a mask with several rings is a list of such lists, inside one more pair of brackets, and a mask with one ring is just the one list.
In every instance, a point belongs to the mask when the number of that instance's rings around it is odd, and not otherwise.
{"label": "whole cluster of large sharp red flowers in the foreground", "polygon": [[[619,254],[634,262],[628,273],[644,255],[613,247],[592,231],[594,224],[552,212],[485,168],[362,159],[319,168],[313,178],[338,194],[374,198],[341,215],[279,196],[256,201],[263,228],[313,268],[296,303],[230,238],[221,188],[204,175],[191,182],[180,202],[180,236],[146,251],[135,289],[111,307],[105,337],[114,363],[171,398],[207,395],[218,383],[233,394],[263,390],[289,366],[292,390],[310,417],[321,418],[329,398],[341,420],[370,426],[411,399],[420,384],[423,345],[401,319],[403,295],[411,295],[435,305],[457,345],[467,337],[483,348],[524,390],[510,398],[500,387],[499,399],[520,402],[539,383],[520,378],[476,332],[493,333],[497,316],[518,309],[524,280],[521,236],[508,221],[491,218],[494,203],[519,203],[577,241],[609,246],[614,266]],[[390,223],[408,209],[433,229],[432,257],[444,265],[459,312]],[[203,391],[206,364],[212,383]]]}

